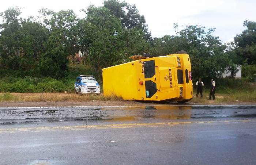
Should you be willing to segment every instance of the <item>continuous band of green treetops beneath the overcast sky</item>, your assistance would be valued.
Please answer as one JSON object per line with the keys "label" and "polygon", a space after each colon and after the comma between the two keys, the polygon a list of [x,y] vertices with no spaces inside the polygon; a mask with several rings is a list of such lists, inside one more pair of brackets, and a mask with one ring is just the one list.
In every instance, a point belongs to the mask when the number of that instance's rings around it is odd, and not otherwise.
{"label": "continuous band of green treetops beneath the overcast sky", "polygon": [[150,52],[173,54],[185,50],[191,57],[193,78],[219,77],[236,65],[256,64],[256,22],[223,44],[215,29],[189,25],[175,35],[152,38],[144,15],[136,5],[108,0],[103,6],[82,9],[84,18],[72,10],[58,12],[42,8],[38,18],[20,18],[20,8],[0,13],[0,69],[23,70],[30,76],[63,77],[68,57],[79,51],[95,72],[129,61],[129,56]]}

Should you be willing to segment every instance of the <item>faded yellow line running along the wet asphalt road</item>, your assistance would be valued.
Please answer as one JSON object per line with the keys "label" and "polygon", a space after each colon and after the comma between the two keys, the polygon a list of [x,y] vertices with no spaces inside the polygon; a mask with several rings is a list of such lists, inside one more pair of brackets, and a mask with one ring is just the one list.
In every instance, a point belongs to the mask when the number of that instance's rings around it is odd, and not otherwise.
{"label": "faded yellow line running along the wet asphalt road", "polygon": [[176,125],[193,125],[209,123],[239,123],[239,122],[256,122],[251,120],[218,120],[218,121],[191,121],[191,122],[161,122],[161,123],[125,123],[125,124],[108,124],[108,125],[79,125],[79,126],[53,126],[53,127],[25,127],[25,128],[2,128],[0,133],[14,133],[24,131],[54,131],[54,130],[89,130],[89,129],[109,129],[109,128],[135,128],[135,127],[170,127]]}

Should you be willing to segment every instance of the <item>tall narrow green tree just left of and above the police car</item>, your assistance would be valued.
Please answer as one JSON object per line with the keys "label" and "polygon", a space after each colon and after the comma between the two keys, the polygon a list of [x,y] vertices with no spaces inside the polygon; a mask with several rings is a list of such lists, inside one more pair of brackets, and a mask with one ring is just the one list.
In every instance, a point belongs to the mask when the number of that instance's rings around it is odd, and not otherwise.
{"label": "tall narrow green tree just left of and above the police car", "polygon": [[[40,69],[44,76],[61,76],[68,69],[67,56],[75,55],[79,48],[77,45],[77,19],[74,11],[61,10],[53,12],[47,9],[39,11],[45,16],[44,23],[51,31],[42,55]],[[49,65],[48,65],[49,64]],[[45,72],[48,70],[48,72]]]}

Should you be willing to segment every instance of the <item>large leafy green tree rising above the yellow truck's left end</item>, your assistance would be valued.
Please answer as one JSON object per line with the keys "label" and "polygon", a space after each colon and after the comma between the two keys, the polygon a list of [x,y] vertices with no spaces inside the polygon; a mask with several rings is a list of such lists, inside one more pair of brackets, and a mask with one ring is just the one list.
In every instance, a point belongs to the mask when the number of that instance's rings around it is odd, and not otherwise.
{"label": "large leafy green tree rising above the yellow truck's left end", "polygon": [[[80,22],[84,27],[79,39],[82,40],[82,50],[87,51],[85,54],[95,71],[120,63],[124,54],[122,42],[119,40],[122,33],[120,19],[112,15],[108,8],[90,6],[83,21]],[[86,36],[86,39],[82,36]]]}

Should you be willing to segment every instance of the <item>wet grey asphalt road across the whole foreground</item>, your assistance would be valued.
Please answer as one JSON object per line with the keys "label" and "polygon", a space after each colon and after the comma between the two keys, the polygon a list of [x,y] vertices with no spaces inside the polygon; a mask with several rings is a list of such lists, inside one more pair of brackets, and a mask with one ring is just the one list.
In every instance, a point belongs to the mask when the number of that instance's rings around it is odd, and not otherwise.
{"label": "wet grey asphalt road across the whole foreground", "polygon": [[0,108],[0,164],[256,164],[256,105]]}

